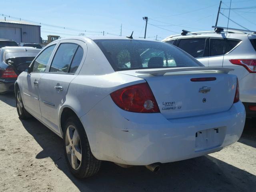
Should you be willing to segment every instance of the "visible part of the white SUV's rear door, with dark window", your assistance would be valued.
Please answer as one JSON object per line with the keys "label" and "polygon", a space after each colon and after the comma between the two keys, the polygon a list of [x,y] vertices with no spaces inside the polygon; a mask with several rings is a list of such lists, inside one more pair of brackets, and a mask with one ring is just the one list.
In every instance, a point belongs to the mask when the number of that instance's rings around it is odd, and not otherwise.
{"label": "visible part of the white SUV's rear door, with dark window", "polygon": [[176,44],[204,66],[208,66],[209,38],[181,38]]}

